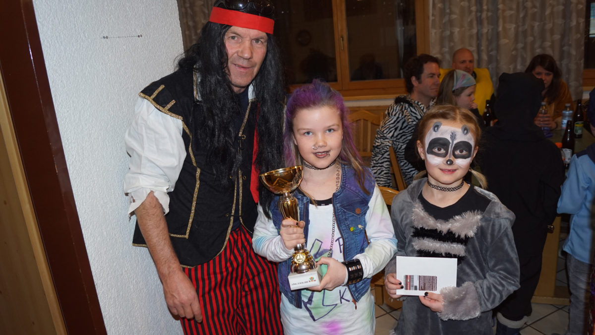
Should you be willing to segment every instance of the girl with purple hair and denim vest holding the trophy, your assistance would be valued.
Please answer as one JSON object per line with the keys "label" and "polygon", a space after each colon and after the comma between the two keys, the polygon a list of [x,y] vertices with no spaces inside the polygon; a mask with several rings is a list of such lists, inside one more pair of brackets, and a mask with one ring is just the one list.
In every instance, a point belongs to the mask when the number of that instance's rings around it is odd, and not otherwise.
{"label": "girl with purple hair and denim vest holding the trophy", "polygon": [[[370,278],[392,258],[397,241],[347,113],[339,92],[318,80],[287,102],[285,161],[304,167],[294,194],[303,221],[283,219],[273,201],[259,207],[252,240],[256,253],[279,263],[286,334],[374,334]],[[287,275],[299,243],[325,271],[320,286],[292,291]]]}

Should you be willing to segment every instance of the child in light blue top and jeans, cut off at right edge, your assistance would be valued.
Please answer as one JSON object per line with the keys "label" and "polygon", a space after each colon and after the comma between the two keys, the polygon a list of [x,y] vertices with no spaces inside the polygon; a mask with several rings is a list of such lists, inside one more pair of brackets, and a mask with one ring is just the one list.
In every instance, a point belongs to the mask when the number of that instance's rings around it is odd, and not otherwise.
{"label": "child in light blue top and jeans, cut off at right edge", "polygon": [[[589,104],[589,119],[595,117],[595,104]],[[593,129],[593,126],[591,126]],[[566,271],[570,290],[567,335],[584,334],[588,328],[591,270],[593,268],[593,198],[595,197],[595,143],[572,156],[558,213],[569,213],[570,232],[562,249],[566,252]]]}

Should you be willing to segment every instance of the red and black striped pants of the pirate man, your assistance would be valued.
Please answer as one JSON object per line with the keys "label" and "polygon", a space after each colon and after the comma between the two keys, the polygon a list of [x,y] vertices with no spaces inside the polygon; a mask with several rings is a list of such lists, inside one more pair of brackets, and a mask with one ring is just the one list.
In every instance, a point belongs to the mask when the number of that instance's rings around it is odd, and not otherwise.
{"label": "red and black striped pants of the pirate man", "polygon": [[220,255],[184,271],[203,320],[181,318],[184,334],[283,334],[277,265],[256,255],[244,228],[231,231]]}

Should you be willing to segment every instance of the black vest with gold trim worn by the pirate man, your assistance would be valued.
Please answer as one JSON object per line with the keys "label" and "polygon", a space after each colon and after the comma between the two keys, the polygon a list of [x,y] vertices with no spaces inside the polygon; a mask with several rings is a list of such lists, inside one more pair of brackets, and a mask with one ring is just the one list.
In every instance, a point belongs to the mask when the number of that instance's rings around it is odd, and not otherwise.
{"label": "black vest with gold trim worn by the pirate man", "polygon": [[[151,83],[140,92],[162,113],[181,120],[186,158],[170,197],[170,212],[165,215],[171,243],[183,266],[208,262],[226,247],[234,220],[251,233],[256,222],[256,203],[250,193],[252,150],[258,104],[250,100],[246,114],[233,126],[238,134],[237,150],[242,148],[242,162],[235,180],[226,186],[215,179],[213,169],[206,163],[207,151],[192,134],[190,122],[202,115],[199,101],[198,75],[177,70]],[[146,245],[138,224],[133,244]]]}

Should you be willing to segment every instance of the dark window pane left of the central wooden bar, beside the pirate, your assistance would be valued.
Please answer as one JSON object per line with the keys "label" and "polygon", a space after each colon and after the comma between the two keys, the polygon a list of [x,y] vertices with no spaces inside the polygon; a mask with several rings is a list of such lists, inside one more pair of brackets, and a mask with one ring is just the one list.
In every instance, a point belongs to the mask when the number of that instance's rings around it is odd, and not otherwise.
{"label": "dark window pane left of the central wooden bar, beside the pirate", "polygon": [[288,84],[337,81],[331,0],[273,0]]}

